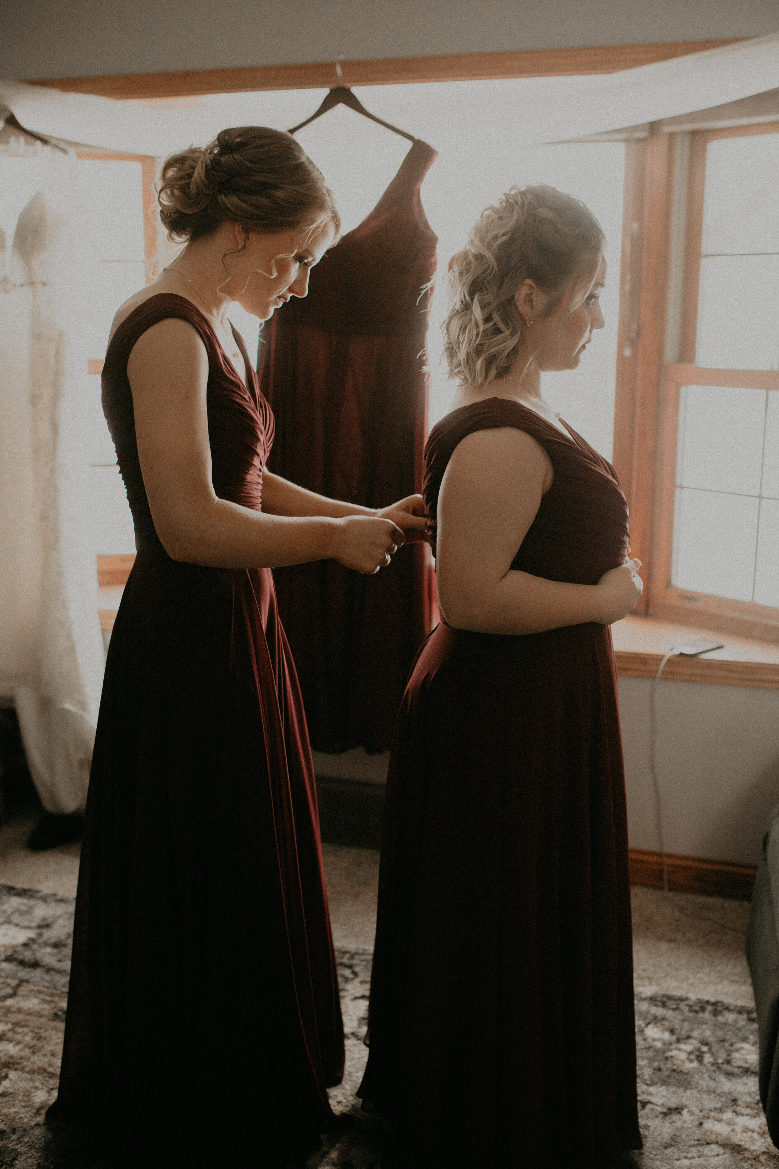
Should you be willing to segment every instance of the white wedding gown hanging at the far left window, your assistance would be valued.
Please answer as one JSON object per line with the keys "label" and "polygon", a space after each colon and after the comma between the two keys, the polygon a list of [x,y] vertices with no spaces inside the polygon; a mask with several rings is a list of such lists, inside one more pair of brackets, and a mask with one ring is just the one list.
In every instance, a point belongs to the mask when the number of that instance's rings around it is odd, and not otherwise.
{"label": "white wedding gown hanging at the far left window", "polygon": [[39,189],[18,223],[2,222],[15,240],[0,281],[0,694],[44,808],[72,812],[86,797],[104,663],[77,427],[82,209],[72,154],[7,161],[37,167]]}

